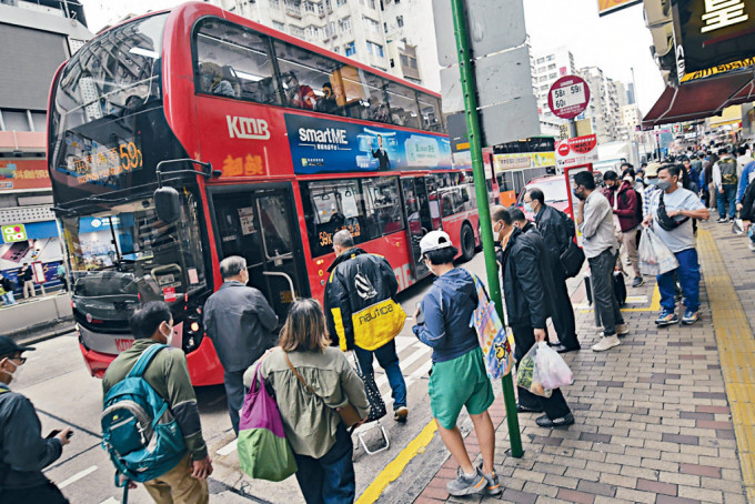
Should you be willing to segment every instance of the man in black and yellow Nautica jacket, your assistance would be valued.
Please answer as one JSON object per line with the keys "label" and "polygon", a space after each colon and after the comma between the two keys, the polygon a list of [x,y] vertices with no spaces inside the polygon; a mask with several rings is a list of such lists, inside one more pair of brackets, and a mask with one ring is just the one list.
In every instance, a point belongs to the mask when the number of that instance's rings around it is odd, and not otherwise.
{"label": "man in black and yellow Nautica jacket", "polygon": [[354,246],[348,230],[333,235],[336,258],[328,271],[325,319],[328,332],[342,351],[353,350],[362,372],[373,376],[373,355],[385,370],[393,391],[393,417],[405,422],[406,383],[401,374],[394,337],[406,314],[393,301],[399,281],[385,258]]}

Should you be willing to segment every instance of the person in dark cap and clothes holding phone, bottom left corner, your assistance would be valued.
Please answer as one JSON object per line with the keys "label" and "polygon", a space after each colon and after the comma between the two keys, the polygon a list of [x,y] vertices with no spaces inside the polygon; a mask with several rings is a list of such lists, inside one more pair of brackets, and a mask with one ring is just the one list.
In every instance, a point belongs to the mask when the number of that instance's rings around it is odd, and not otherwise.
{"label": "person in dark cap and clothes holding phone, bottom left corner", "polygon": [[42,470],[60,458],[72,431],[42,437],[31,401],[8,386],[27,361],[22,353],[31,350],[0,336],[0,502],[64,504],[68,500]]}

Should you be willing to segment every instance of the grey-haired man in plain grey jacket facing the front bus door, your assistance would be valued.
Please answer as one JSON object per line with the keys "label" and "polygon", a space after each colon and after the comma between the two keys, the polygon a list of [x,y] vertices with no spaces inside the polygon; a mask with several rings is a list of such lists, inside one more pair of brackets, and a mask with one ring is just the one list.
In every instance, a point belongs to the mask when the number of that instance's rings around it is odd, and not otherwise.
{"label": "grey-haired man in plain grey jacket facing the front bus door", "polygon": [[239,435],[239,410],[244,401],[244,371],[274,344],[278,315],[262,292],[246,286],[246,260],[238,255],[220,262],[223,284],[204,304],[204,329],[223,365],[228,411]]}

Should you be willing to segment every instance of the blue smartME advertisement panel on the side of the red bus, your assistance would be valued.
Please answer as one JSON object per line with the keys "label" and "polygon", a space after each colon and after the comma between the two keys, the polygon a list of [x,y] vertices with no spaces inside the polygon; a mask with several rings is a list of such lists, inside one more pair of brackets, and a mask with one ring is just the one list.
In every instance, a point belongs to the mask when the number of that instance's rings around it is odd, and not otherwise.
{"label": "blue smartME advertisement panel on the side of the red bus", "polygon": [[294,173],[449,169],[446,137],[285,114]]}

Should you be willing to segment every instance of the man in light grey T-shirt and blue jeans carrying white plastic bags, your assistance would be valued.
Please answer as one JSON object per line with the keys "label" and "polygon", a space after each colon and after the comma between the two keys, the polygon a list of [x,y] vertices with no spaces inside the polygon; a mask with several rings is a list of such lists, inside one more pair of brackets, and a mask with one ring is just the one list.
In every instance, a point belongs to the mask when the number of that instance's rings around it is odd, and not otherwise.
{"label": "man in light grey T-shirt and blue jeans carrying white plastic bags", "polygon": [[[662,310],[655,323],[660,327],[680,321],[675,313],[674,272],[678,275],[685,298],[686,310],[682,323],[694,324],[699,319],[699,263],[697,261],[697,249],[695,249],[695,235],[692,230],[692,219],[707,220],[709,214],[699,198],[694,192],[682,188],[678,181],[680,167],[664,164],[658,169],[657,187],[661,191],[653,195],[650,202],[650,212],[643,221],[645,228],[653,226],[655,236],[668,248],[678,262],[675,270],[667,270],[667,259],[663,258],[663,254],[656,256]],[[652,243],[653,238],[648,238],[651,234],[643,233],[643,241],[647,239],[651,241],[645,246],[658,250],[658,246],[654,246]],[[645,246],[641,242],[641,248],[645,249]],[[663,268],[661,268],[662,263]],[[651,265],[648,263],[646,268]]]}

